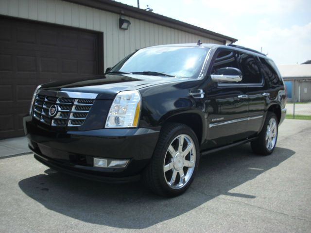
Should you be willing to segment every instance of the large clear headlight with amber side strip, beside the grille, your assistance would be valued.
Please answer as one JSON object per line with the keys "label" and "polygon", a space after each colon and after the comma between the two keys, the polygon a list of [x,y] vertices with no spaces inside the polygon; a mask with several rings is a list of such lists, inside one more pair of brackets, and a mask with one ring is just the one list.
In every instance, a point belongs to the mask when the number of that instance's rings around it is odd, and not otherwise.
{"label": "large clear headlight with amber side strip, beside the grille", "polygon": [[106,128],[137,127],[140,113],[138,91],[121,91],[113,100],[106,120]]}

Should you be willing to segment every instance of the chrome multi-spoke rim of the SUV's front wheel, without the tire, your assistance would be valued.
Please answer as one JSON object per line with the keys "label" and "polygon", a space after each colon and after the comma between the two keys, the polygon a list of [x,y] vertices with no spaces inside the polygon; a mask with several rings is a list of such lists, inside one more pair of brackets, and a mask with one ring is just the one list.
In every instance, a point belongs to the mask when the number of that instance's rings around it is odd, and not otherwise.
{"label": "chrome multi-spoke rim of the SUV's front wheel, without the tire", "polygon": [[195,167],[196,151],[192,138],[180,134],[173,139],[164,158],[163,171],[166,183],[180,189],[191,179]]}

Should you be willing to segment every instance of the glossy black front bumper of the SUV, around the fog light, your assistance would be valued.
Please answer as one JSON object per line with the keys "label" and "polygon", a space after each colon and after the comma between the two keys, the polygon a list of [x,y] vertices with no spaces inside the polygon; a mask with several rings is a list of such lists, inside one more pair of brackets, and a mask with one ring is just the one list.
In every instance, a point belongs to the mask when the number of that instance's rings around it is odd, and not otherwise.
{"label": "glossy black front bumper of the SUV, around the fog light", "polygon": [[[138,179],[155,150],[159,130],[147,128],[57,132],[24,117],[24,131],[35,158],[55,170],[104,182]],[[128,159],[125,168],[94,167],[93,158]]]}

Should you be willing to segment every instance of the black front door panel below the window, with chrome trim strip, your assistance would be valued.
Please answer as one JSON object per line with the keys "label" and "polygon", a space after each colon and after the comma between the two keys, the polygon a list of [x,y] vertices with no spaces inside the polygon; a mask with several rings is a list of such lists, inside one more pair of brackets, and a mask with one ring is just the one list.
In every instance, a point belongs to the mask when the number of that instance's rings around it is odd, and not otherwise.
{"label": "black front door panel below the window, with chrome trim strip", "polygon": [[246,138],[248,101],[245,94],[245,87],[214,86],[210,90],[207,97],[207,148]]}

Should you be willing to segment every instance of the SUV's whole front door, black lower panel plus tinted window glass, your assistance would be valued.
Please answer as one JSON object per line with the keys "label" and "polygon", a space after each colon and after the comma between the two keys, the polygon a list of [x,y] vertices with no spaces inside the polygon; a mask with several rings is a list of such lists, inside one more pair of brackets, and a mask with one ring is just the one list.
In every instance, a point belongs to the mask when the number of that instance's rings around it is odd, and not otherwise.
{"label": "SUV's whole front door, black lower panel plus tinted window glass", "polygon": [[[210,74],[219,68],[239,68],[234,50],[219,49]],[[207,93],[207,149],[224,146],[246,138],[248,100],[242,83],[213,83]]]}

